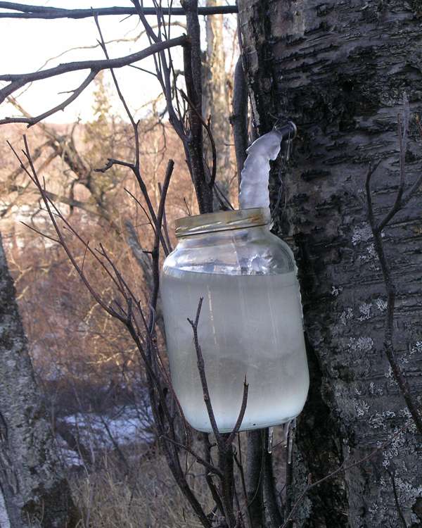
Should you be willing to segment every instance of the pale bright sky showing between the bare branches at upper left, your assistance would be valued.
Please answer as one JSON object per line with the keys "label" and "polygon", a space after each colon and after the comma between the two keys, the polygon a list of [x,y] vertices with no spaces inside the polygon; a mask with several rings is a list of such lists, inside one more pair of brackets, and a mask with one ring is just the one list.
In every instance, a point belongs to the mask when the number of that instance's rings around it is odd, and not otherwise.
{"label": "pale bright sky showing between the bare branches at upper left", "polygon": [[[30,0],[25,4],[44,5],[60,8],[90,8],[90,7],[110,7],[110,6],[133,6],[129,0]],[[149,2],[144,2],[148,6]],[[165,5],[165,2],[163,2]],[[174,2],[179,6],[179,2]],[[139,34],[141,25],[136,17],[122,20],[122,16],[103,16],[99,18],[103,37],[106,42],[113,39],[130,39]],[[184,22],[184,18],[175,18]],[[151,17],[151,23],[154,18]],[[181,27],[172,28],[172,37],[176,37],[184,32]],[[103,51],[96,49],[78,49],[65,53],[60,58],[55,58],[48,65],[45,61],[62,54],[63,52],[77,46],[95,46],[98,38],[98,31],[94,20],[91,18],[82,20],[25,20],[25,19],[0,19],[0,49],[2,50],[0,58],[1,73],[29,73],[39,68],[51,68],[63,62],[89,60],[90,58],[104,58]],[[146,37],[142,37],[136,42],[119,42],[108,44],[110,57],[124,56],[127,54],[140,51],[148,46]],[[173,51],[175,61],[181,58],[179,50]],[[146,58],[137,65],[153,70],[152,58]],[[180,65],[176,65],[180,68]],[[121,82],[121,89],[127,102],[132,110],[137,110],[143,104],[151,101],[160,93],[160,87],[154,77],[146,73],[141,73],[134,68],[125,67],[115,70],[118,79]],[[58,92],[68,91],[77,87],[88,70],[81,72],[68,73],[53,77],[49,80],[37,81],[22,94],[23,89],[16,94],[18,101],[31,115],[37,115],[57,103],[66,99],[68,95],[58,94]],[[107,74],[109,75],[109,74]],[[75,121],[78,116],[82,120],[92,118],[92,90],[94,85],[85,89],[79,98],[65,109],[54,115],[51,115],[49,122],[68,123]],[[122,113],[120,101],[113,101],[113,108]],[[141,113],[145,110],[141,110]],[[139,113],[139,117],[141,117]],[[0,118],[6,116],[18,115],[15,108],[9,104],[0,106]]]}

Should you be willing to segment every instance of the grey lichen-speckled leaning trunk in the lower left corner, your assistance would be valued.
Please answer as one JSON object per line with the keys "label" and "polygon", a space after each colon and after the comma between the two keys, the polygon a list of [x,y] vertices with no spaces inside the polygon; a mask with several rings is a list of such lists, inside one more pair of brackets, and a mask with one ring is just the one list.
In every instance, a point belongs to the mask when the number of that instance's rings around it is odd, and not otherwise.
{"label": "grey lichen-speckled leaning trunk in the lower left corner", "polygon": [[72,528],[77,513],[27,352],[0,239],[1,528]]}

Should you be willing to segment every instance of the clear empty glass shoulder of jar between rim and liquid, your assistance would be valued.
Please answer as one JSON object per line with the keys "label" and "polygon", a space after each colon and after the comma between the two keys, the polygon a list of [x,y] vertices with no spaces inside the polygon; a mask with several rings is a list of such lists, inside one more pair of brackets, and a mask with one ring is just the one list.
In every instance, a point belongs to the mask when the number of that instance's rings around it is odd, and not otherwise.
{"label": "clear empty glass shoulder of jar between rim and liquid", "polygon": [[238,230],[181,239],[165,259],[172,270],[228,275],[276,275],[295,271],[293,252],[267,229]]}

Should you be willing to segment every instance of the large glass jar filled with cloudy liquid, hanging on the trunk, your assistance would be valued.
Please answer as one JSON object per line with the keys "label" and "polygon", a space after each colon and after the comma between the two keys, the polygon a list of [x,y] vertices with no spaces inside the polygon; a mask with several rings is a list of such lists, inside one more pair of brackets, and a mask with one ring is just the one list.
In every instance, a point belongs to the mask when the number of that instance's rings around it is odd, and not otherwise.
{"label": "large glass jar filled with cloudy liquid, hanging on the trunk", "polygon": [[269,231],[267,208],[223,211],[176,222],[161,295],[174,391],[192,427],[212,428],[198,374],[198,338],[221,432],[233,429],[249,385],[241,430],[288,422],[302,410],[309,374],[293,253]]}

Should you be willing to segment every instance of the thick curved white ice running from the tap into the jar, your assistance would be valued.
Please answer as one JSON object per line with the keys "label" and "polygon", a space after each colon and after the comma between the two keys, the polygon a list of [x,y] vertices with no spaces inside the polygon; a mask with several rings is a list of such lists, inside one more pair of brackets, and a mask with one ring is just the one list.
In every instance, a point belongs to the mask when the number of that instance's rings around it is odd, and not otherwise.
{"label": "thick curved white ice running from the tap into the jar", "polygon": [[239,195],[241,209],[269,207],[269,161],[279,155],[282,139],[281,132],[271,130],[248,148]]}

